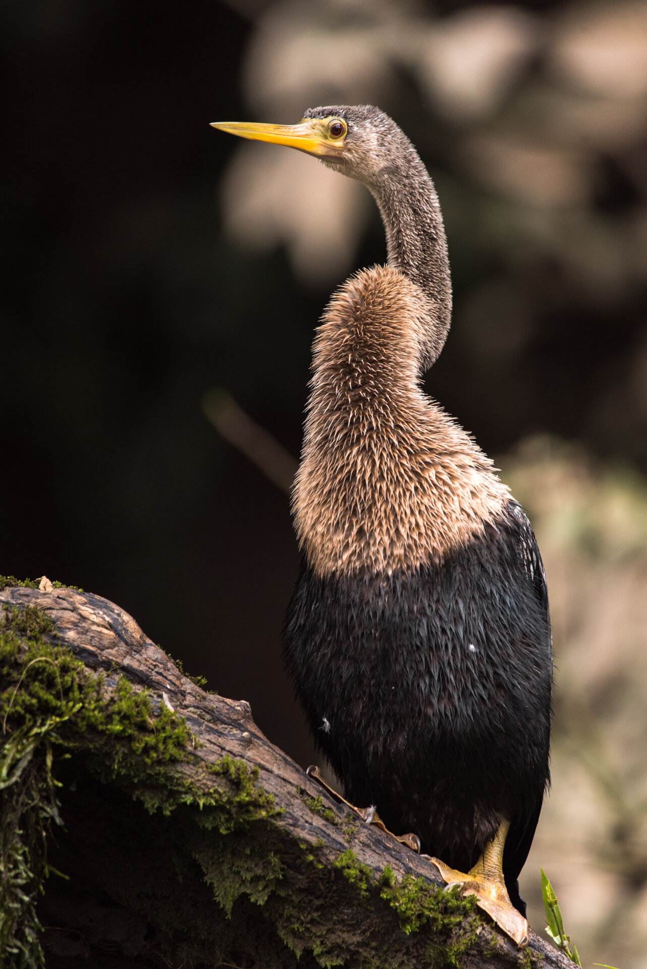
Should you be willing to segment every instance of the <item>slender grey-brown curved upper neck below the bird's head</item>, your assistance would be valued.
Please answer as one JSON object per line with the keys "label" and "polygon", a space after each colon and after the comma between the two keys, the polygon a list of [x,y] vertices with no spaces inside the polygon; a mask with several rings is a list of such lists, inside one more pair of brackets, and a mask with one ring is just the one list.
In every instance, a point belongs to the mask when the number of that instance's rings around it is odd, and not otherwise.
{"label": "slender grey-brown curved upper neck below the bird's head", "polygon": [[436,188],[410,141],[398,163],[368,187],[385,225],[388,265],[429,298],[440,353],[451,321],[447,237]]}

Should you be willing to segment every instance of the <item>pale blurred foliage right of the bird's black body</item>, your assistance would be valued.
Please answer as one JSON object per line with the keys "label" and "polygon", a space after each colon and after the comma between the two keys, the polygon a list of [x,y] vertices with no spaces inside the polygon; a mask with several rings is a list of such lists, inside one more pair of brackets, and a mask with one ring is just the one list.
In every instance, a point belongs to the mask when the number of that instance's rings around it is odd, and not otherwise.
{"label": "pale blurred foliage right of the bird's black body", "polygon": [[539,866],[578,939],[647,965],[647,483],[546,437],[502,460],[543,558],[555,648],[552,790],[522,893],[541,919]]}

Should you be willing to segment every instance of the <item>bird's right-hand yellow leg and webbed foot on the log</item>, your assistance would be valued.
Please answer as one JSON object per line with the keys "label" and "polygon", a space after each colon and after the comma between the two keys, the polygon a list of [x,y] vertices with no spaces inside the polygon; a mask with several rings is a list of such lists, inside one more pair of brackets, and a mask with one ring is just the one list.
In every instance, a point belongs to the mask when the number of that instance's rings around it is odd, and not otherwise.
{"label": "bird's right-hand yellow leg and webbed foot on the log", "polygon": [[502,818],[499,830],[492,840],[487,842],[483,854],[467,875],[462,871],[449,868],[444,861],[436,858],[430,860],[434,862],[447,882],[447,888],[462,885],[466,894],[475,894],[478,907],[487,912],[497,925],[503,928],[511,939],[514,939],[519,949],[525,949],[528,945],[528,922],[510,902],[504,881],[504,846],[508,828],[509,821]]}

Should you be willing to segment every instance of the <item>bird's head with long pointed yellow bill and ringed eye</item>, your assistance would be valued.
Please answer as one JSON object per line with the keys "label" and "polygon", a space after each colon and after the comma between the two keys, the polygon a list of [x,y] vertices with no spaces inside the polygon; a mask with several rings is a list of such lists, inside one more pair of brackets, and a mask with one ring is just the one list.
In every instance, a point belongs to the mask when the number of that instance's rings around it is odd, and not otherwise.
{"label": "bird's head with long pointed yellow bill and ringed eye", "polygon": [[308,109],[298,124],[213,122],[212,127],[239,138],[270,141],[305,151],[325,165],[372,187],[392,170],[411,142],[394,121],[371,105]]}

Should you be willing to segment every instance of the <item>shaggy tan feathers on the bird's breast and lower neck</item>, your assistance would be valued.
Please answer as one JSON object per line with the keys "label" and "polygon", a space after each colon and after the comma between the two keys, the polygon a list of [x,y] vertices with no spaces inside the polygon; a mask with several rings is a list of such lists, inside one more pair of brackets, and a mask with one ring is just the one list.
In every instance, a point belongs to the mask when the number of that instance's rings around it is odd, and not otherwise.
{"label": "shaggy tan feathers on the bird's breast and lower neck", "polygon": [[426,310],[414,283],[377,267],[323,314],[294,486],[297,535],[319,575],[440,561],[508,499],[489,459],[417,386]]}

